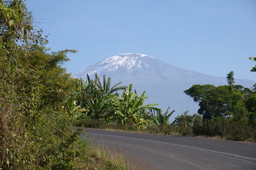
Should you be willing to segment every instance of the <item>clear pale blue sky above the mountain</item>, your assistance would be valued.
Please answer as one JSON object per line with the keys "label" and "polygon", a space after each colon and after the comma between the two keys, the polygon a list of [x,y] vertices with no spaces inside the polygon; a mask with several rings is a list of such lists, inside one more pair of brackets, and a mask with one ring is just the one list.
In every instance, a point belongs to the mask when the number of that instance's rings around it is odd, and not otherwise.
{"label": "clear pale blue sky above the mountain", "polygon": [[53,51],[78,50],[73,74],[119,53],[256,80],[255,0],[26,0]]}

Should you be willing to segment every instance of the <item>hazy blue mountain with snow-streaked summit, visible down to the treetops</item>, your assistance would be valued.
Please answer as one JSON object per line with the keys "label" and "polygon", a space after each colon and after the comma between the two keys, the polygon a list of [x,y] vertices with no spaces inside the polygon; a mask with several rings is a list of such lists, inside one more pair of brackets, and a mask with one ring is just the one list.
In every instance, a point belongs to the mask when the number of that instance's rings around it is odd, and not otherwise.
{"label": "hazy blue mountain with snow-streaked summit, visible down to the treetops", "polygon": [[[158,103],[165,110],[168,106],[175,109],[171,119],[183,111],[190,110],[191,114],[197,112],[198,105],[184,94],[194,84],[212,84],[215,86],[227,85],[225,77],[215,77],[195,71],[171,66],[151,56],[127,53],[112,56],[104,61],[88,66],[75,74],[74,77],[86,79],[88,74],[94,78],[105,74],[111,77],[111,83],[123,82],[122,85],[132,83],[138,93],[146,91],[147,103]],[[225,75],[225,74],[224,74]],[[236,79],[236,84],[252,87],[255,81]]]}

